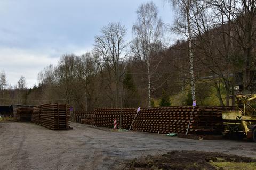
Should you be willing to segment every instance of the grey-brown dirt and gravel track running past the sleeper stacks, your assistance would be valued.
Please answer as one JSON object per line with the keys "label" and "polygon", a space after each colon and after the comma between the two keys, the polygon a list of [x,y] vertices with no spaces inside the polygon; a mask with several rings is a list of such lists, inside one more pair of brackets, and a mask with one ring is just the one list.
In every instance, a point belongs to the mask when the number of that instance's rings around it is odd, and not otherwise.
{"label": "grey-brown dirt and gravel track running past the sleeper stacks", "polygon": [[111,169],[121,160],[171,150],[256,158],[256,143],[197,141],[153,133],[113,132],[77,123],[52,131],[33,123],[0,123],[0,169]]}

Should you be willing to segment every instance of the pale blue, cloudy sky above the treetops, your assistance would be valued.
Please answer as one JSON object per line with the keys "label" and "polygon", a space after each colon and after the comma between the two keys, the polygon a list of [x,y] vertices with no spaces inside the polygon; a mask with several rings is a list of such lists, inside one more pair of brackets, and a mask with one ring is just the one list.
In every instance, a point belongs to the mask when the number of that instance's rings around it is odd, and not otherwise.
{"label": "pale blue, cloudy sky above the treetops", "polygon": [[[1,0],[0,71],[14,86],[23,75],[27,87],[44,67],[63,54],[81,55],[93,48],[94,36],[110,22],[121,22],[131,40],[135,11],[146,0]],[[165,23],[174,20],[170,5],[153,1]]]}

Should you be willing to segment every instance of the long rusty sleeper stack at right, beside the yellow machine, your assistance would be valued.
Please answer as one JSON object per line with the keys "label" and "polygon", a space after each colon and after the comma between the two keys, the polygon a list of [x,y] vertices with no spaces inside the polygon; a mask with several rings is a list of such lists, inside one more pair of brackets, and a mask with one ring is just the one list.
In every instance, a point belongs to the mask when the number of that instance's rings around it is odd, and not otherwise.
{"label": "long rusty sleeper stack at right, beside the yellow machine", "polygon": [[133,130],[153,133],[213,134],[223,128],[221,112],[233,107],[217,106],[173,106],[141,109]]}

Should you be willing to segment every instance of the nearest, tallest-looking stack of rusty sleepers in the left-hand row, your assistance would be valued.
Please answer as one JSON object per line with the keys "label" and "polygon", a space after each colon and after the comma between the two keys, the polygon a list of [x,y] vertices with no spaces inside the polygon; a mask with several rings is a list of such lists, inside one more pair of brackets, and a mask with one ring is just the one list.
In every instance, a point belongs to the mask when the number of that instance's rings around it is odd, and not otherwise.
{"label": "nearest, tallest-looking stack of rusty sleepers in the left-hand row", "polygon": [[52,130],[70,129],[70,110],[67,104],[43,104],[39,105],[40,125]]}

